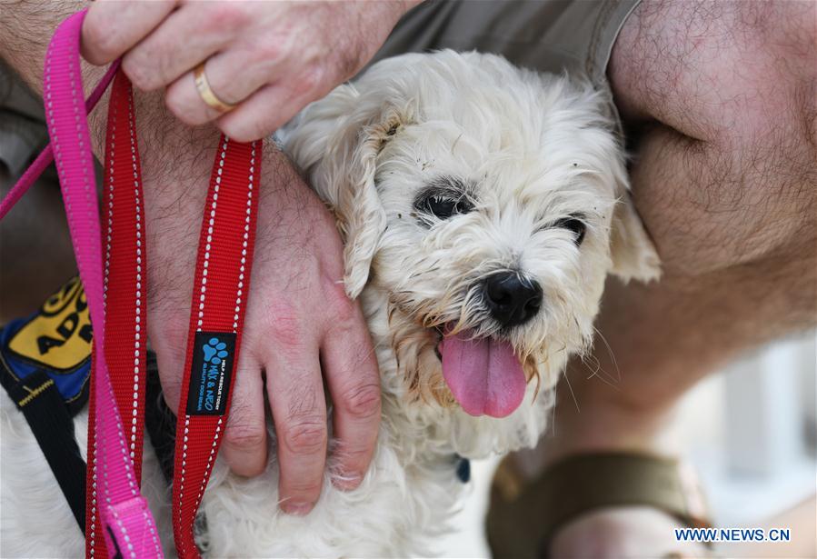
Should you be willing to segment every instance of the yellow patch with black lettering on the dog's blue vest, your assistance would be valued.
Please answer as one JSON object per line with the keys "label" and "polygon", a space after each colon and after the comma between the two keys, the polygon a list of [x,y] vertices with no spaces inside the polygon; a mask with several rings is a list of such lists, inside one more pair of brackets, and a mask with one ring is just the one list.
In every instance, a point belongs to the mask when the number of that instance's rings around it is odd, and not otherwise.
{"label": "yellow patch with black lettering on the dog's blue vest", "polygon": [[58,370],[70,370],[91,354],[91,319],[79,278],[51,295],[40,314],[25,324],[8,344],[15,354]]}

